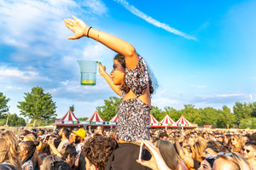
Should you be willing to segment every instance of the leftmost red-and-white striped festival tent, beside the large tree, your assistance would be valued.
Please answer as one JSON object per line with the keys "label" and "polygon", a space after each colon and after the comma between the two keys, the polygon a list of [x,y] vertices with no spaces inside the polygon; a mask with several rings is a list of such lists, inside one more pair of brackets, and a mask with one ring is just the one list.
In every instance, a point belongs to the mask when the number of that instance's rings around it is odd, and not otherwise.
{"label": "leftmost red-and-white striped festival tent, beside the large tree", "polygon": [[67,111],[66,115],[63,116],[60,120],[55,122],[57,127],[73,127],[73,126],[83,126],[79,124],[79,119],[74,116],[71,110]]}

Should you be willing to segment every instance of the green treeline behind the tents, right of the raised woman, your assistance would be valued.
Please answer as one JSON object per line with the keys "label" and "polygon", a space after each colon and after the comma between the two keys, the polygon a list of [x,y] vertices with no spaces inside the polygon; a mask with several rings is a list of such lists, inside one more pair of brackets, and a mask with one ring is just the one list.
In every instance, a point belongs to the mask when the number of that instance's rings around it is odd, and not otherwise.
{"label": "green treeline behind the tents, right of the raised woman", "polygon": [[196,123],[200,127],[214,124],[219,128],[256,128],[256,102],[236,102],[233,106],[233,112],[226,105],[221,110],[212,107],[197,109],[195,105],[184,105],[184,109],[180,111],[169,106],[166,106],[164,111],[162,111],[157,106],[154,106],[151,114],[159,121],[166,115],[169,115],[175,122],[177,122],[180,116],[185,116],[189,122]]}

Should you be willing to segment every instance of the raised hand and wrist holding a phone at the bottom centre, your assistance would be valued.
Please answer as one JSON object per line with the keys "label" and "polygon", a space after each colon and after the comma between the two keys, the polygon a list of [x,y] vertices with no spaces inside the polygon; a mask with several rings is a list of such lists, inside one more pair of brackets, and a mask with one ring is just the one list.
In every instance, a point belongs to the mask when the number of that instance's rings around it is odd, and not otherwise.
{"label": "raised hand and wrist holding a phone at the bottom centre", "polygon": [[149,161],[137,160],[137,162],[142,164],[143,166],[150,167],[153,170],[170,170],[170,168],[167,167],[163,157],[161,156],[160,150],[148,140],[143,140],[143,143],[148,147],[148,150],[150,150],[152,156]]}

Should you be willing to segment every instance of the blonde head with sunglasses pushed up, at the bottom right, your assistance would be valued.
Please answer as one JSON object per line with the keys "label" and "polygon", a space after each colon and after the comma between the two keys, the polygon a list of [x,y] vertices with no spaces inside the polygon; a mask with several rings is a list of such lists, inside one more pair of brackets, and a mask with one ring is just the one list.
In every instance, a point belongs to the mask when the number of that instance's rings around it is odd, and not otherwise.
{"label": "blonde head with sunglasses pushed up, at the bottom right", "polygon": [[219,153],[213,163],[213,170],[250,170],[248,161],[236,152]]}

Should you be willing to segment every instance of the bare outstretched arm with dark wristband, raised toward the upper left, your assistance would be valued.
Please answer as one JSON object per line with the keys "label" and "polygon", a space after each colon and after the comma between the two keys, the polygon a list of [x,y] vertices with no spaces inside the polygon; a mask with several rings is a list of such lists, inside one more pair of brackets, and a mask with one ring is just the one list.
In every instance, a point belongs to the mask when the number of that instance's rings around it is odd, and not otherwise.
{"label": "bare outstretched arm with dark wristband, raised toward the upper left", "polygon": [[125,63],[128,69],[133,69],[136,67],[138,62],[138,56],[135,48],[124,40],[114,37],[103,31],[98,31],[90,26],[87,26],[83,20],[73,16],[73,20],[64,20],[65,25],[68,29],[75,33],[74,36],[68,37],[68,39],[79,39],[80,37],[90,37],[97,42],[101,42],[108,48],[117,52],[118,54],[123,54],[125,56]]}

